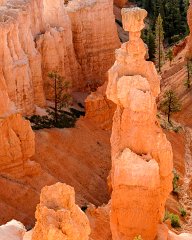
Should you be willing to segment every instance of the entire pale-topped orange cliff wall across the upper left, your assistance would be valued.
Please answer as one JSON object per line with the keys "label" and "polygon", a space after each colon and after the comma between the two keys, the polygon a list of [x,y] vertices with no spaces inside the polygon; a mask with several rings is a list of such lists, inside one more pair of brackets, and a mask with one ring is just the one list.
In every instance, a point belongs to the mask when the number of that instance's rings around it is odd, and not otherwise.
{"label": "entire pale-topped orange cliff wall across the upper left", "polygon": [[44,106],[52,70],[78,90],[111,67],[119,44],[112,0],[83,2],[69,8],[62,0],[0,2],[0,114],[10,111],[10,100],[23,114]]}

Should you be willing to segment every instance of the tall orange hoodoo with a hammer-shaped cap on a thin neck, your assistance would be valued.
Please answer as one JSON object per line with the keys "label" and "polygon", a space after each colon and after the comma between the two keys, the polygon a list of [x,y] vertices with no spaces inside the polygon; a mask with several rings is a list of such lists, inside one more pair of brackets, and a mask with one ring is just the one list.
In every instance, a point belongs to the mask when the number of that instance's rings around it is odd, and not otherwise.
{"label": "tall orange hoodoo with a hammer-shaped cap on a thin neck", "polygon": [[138,235],[154,240],[172,190],[172,148],[156,119],[160,81],[154,64],[145,61],[140,38],[147,12],[123,9],[122,16],[130,40],[116,51],[106,91],[117,105],[111,136],[111,230],[113,240]]}

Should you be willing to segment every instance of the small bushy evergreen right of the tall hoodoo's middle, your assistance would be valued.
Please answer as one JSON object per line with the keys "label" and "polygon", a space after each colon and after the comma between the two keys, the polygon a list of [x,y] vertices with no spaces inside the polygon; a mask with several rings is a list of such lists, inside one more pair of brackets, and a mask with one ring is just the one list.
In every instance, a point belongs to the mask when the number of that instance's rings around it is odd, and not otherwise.
{"label": "small bushy evergreen right of the tall hoodoo's middle", "polygon": [[181,111],[181,103],[173,90],[165,92],[160,108],[167,115],[169,123],[171,114]]}

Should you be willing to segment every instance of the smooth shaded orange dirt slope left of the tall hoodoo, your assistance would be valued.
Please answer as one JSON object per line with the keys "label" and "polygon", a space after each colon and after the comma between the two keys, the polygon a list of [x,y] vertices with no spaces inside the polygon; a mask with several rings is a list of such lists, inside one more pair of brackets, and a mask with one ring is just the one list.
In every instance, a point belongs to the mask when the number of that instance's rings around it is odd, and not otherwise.
{"label": "smooth shaded orange dirt slope left of the tall hoodoo", "polygon": [[31,228],[41,188],[58,181],[75,187],[80,205],[108,202],[109,139],[109,131],[85,120],[73,129],[37,131],[33,160],[42,171],[19,180],[0,175],[0,224],[16,219]]}

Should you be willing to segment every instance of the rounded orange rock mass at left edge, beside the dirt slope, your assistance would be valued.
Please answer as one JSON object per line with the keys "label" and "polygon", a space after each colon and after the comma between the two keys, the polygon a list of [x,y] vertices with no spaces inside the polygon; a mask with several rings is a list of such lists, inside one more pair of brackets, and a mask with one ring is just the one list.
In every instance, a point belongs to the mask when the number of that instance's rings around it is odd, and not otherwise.
{"label": "rounded orange rock mass at left edge, beside the dirt slope", "polygon": [[0,121],[0,174],[22,177],[37,170],[30,161],[35,153],[34,133],[29,121],[15,114]]}

